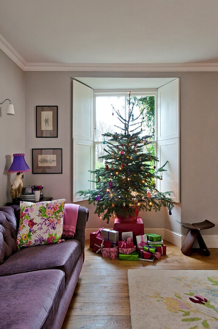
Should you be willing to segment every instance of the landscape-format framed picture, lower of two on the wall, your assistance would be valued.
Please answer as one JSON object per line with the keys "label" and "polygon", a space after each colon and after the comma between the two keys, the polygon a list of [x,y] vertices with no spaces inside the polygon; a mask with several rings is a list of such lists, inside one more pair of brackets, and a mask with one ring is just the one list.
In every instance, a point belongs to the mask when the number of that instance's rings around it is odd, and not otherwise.
{"label": "landscape-format framed picture, lower of two on the wall", "polygon": [[33,174],[62,174],[62,148],[32,148]]}

